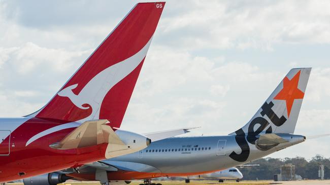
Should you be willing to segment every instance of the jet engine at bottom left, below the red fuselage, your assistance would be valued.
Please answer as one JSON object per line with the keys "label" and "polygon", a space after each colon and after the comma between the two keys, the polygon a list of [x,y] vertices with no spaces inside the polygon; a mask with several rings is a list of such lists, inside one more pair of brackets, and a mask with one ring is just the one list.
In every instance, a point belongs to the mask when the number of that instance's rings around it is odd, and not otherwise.
{"label": "jet engine at bottom left, below the red fuselage", "polygon": [[43,175],[33,176],[30,178],[24,178],[24,185],[56,185],[58,183],[65,182],[70,179],[65,174],[60,173],[46,173]]}

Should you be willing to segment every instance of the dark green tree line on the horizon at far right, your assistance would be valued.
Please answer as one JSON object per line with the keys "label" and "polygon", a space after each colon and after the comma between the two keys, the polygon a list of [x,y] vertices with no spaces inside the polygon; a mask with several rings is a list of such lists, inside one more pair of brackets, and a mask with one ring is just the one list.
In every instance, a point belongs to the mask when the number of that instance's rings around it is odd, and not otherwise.
{"label": "dark green tree line on the horizon at far right", "polygon": [[319,179],[318,169],[324,165],[324,179],[330,179],[330,158],[321,155],[314,156],[310,161],[303,157],[295,158],[262,158],[248,164],[259,164],[239,168],[243,173],[243,180],[268,180],[274,179],[274,174],[279,174],[281,166],[284,164],[295,165],[295,174],[301,175],[303,179]]}

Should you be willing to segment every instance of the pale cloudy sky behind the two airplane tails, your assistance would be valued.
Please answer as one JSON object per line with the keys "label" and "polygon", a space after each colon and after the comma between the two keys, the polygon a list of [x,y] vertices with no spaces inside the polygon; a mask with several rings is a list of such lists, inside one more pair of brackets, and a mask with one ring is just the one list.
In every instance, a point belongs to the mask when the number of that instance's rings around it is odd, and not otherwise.
{"label": "pale cloudy sky behind the two airplane tails", "polygon": [[[136,1],[0,0],[0,116],[44,106]],[[296,134],[330,133],[329,1],[167,1],[122,129],[248,122],[285,74],[312,67]],[[330,137],[270,157],[330,157]]]}

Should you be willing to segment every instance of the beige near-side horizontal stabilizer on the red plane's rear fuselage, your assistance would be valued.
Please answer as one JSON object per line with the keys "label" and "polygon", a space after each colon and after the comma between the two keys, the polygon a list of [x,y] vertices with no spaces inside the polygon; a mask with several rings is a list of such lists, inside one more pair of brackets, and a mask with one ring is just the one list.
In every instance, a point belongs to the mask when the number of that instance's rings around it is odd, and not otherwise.
{"label": "beige near-side horizontal stabilizer on the red plane's rear fuselage", "polygon": [[77,149],[103,143],[124,145],[113,129],[107,125],[106,119],[85,121],[60,142],[51,144],[53,149]]}

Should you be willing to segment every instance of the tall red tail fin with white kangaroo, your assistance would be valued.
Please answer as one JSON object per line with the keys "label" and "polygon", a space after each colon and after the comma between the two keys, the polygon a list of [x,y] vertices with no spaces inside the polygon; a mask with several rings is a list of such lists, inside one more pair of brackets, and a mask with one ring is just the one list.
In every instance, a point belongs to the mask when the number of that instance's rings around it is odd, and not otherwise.
{"label": "tall red tail fin with white kangaroo", "polygon": [[165,3],[139,3],[52,100],[27,117],[120,127]]}

